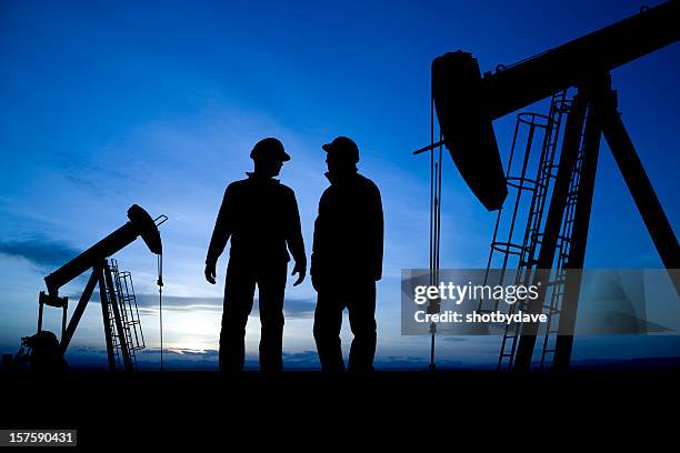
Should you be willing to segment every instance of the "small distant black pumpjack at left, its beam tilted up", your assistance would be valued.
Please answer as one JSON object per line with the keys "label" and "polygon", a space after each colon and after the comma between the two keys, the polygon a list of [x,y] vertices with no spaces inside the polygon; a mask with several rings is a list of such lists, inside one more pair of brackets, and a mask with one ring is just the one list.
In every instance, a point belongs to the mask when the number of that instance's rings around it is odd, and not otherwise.
{"label": "small distant black pumpjack at left, its beam tilted up", "polygon": [[[40,292],[38,333],[22,339],[23,346],[31,349],[31,355],[36,359],[34,361],[40,362],[31,364],[32,369],[47,370],[50,366],[46,364],[54,365],[63,363],[63,355],[97,283],[99,283],[100,290],[109,369],[111,371],[116,370],[114,345],[121,351],[124,370],[131,371],[133,369],[129,345],[130,339],[129,335],[126,335],[124,313],[121,313],[121,304],[117,302],[119,295],[116,292],[114,276],[118,276],[118,269],[113,264],[114,269],[112,272],[107,259],[132,243],[139,236],[142,238],[152,253],[161,255],[163,249],[158,226],[168,220],[168,218],[159,215],[152,219],[141,207],[133,204],[128,210],[128,219],[129,222],[44,278],[48,292]],[[68,298],[59,296],[59,290],[89,269],[92,270],[92,273],[67,326]],[[44,305],[61,308],[63,311],[61,340],[58,343],[56,342],[54,334],[42,330]]]}

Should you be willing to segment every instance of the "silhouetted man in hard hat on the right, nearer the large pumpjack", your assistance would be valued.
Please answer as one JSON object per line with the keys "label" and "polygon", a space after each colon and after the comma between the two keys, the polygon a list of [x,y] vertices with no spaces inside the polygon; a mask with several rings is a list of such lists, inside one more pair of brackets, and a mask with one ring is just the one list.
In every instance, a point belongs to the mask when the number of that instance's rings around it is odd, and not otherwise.
{"label": "silhouetted man in hard hat on the right, nearer the large pumpjack", "polygon": [[372,371],[376,354],[376,281],[382,276],[380,191],[357,172],[359,148],[347,137],[324,144],[331,185],[319,202],[310,273],[319,293],[314,340],[321,369],[344,371],[340,345],[342,311],[354,334],[350,372]]}

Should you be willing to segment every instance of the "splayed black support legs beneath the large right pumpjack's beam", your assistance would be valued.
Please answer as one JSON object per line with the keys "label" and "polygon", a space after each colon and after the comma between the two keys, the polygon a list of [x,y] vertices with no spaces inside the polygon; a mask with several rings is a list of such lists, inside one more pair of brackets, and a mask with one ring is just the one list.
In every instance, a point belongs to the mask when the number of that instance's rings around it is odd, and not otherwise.
{"label": "splayed black support legs beneath the large right pumpjack's beam", "polygon": [[[611,90],[610,77],[594,79],[590,84],[579,88],[574,99],[572,112],[567,121],[567,130],[560,164],[556,179],[550,208],[546,221],[542,244],[538,259],[538,272],[533,284],[541,282],[539,298],[528,306],[529,312],[540,313],[542,310],[548,279],[554,260],[558,235],[563,220],[564,207],[568,198],[569,181],[580,147],[580,131],[587,107],[589,108],[588,123],[584,133],[583,167],[581,184],[577,201],[572,242],[569,251],[568,268],[582,269],[588,242],[588,229],[592,208],[592,194],[597,172],[600,137],[603,134],[614,157],[619,171],[630,191],[640,212],[644,225],[661,256],[663,265],[671,270],[680,268],[680,246],[663,211],[654,189],[638,157],[636,148],[621,121],[618,111],[616,91]],[[680,294],[680,282],[673,279]],[[580,292],[580,275],[571,275],[567,282],[564,300],[560,311],[560,325],[556,344],[554,368],[559,371],[568,370],[573,345],[573,330],[578,310]],[[529,371],[539,325],[528,323],[522,328],[513,371]]]}

